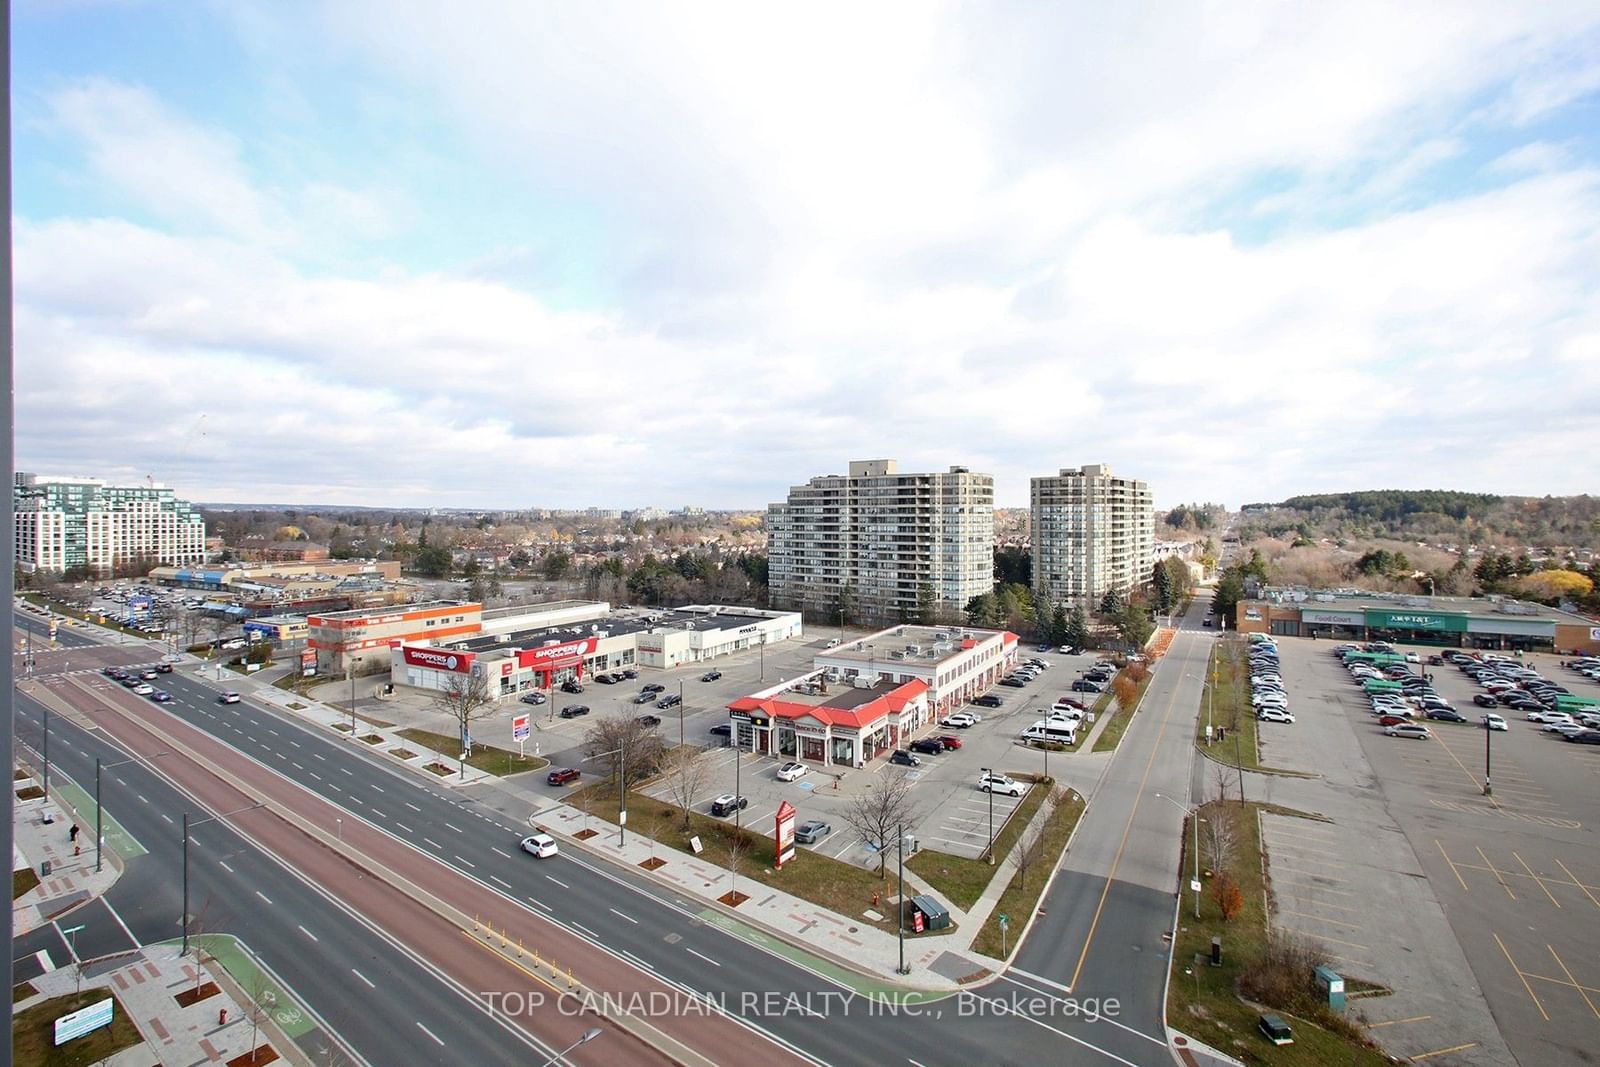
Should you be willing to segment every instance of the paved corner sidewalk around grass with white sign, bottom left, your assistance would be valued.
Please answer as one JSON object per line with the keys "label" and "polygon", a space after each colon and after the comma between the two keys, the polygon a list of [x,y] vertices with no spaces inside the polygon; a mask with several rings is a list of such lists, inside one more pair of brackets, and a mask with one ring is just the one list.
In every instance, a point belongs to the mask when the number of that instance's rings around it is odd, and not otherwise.
{"label": "paved corner sidewalk around grass with white sign, bottom left", "polygon": [[[275,1053],[274,1059],[307,1062],[293,1041],[269,1037],[269,1030],[277,1029],[267,1017],[270,1000],[266,1009],[246,1013],[230,992],[230,982],[210,966],[197,969],[192,960],[178,955],[176,945],[149,945],[120,957],[90,960],[82,971],[83,990],[104,989],[114,993],[144,1038],[102,1061],[110,1067],[149,1067],[152,1062],[166,1067],[226,1064],[262,1046]],[[29,982],[38,992],[16,1001],[16,1013],[75,992],[80,982],[78,966],[69,963]],[[197,985],[205,998],[189,1006],[179,1005],[176,997]],[[251,1014],[256,1016],[254,1024]],[[258,1059],[267,1062],[259,1053]]]}

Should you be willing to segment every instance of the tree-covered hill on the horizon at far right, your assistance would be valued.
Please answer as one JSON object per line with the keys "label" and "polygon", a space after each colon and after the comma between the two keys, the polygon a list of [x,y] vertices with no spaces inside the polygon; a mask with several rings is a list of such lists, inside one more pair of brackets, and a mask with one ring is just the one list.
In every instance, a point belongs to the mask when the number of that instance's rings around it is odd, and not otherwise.
{"label": "tree-covered hill on the horizon at far right", "polygon": [[1600,498],[1371,490],[1246,504],[1243,539],[1395,537],[1454,544],[1600,547]]}

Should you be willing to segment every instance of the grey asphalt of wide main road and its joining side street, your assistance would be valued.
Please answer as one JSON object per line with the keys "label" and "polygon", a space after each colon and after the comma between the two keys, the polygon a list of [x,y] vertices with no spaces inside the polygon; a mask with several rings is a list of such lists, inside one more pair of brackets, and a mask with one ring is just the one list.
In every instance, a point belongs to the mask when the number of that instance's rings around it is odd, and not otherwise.
{"label": "grey asphalt of wide main road and its joining side street", "polygon": [[[37,627],[38,621],[19,614],[19,625]],[[130,723],[160,729],[163,717],[171,715],[170,731],[192,729],[210,744],[227,745],[218,747],[226,753],[218,763],[226,761],[229,774],[274,793],[290,790],[302,797],[296,803],[309,805],[302,808],[307,817],[338,824],[325,824],[320,832],[360,835],[362,848],[403,854],[408,872],[426,869],[437,878],[456,880],[435,883],[451,886],[446,891],[454,897],[491,897],[498,913],[514,917],[501,925],[565,939],[563,963],[579,981],[594,974],[597,987],[606,987],[614,984],[605,981],[614,968],[630,968],[640,982],[678,998],[675,1006],[672,1000],[658,1001],[670,1011],[685,1008],[682,998],[709,995],[747,1027],[741,1059],[754,1057],[765,1045],[762,1056],[834,1064],[1022,1064],[1042,1057],[1149,1064],[1166,1059],[1165,933],[1173,920],[1181,824],[1181,814],[1152,793],[1187,797],[1194,755],[1189,739],[1206,637],[1186,627],[1157,670],[1144,712],[1109,765],[1045,897],[1043,915],[1018,957],[1018,969],[981,990],[918,1006],[915,1014],[850,1001],[851,990],[803,960],[722,931],[706,921],[701,904],[634,872],[586,856],[533,861],[520,854],[517,838],[539,803],[533,797],[523,800],[507,789],[458,792],[418,781],[410,771],[355,750],[349,741],[307,729],[248,699],[218,704],[218,689],[194,677],[192,667],[190,673],[163,675],[160,685],[174,701],[157,709],[91,673],[78,673],[91,670],[91,661],[126,662],[134,653],[115,645],[90,648],[96,641],[72,629],[59,638],[74,649],[66,656],[69,673],[51,678],[48,688],[72,705],[128,710],[90,712],[93,729],[53,717],[51,757],[91,787],[94,755],[126,758],[106,734],[125,737],[128,745],[147,744],[147,737],[133,737]],[[53,653],[51,659],[59,656]],[[56,664],[42,657],[35,673],[53,669]],[[18,712],[24,741],[37,737],[38,705],[21,697]],[[198,792],[178,761],[155,765],[190,793]],[[141,765],[125,765],[115,776],[118,781],[107,777],[107,811],[150,853],[131,861],[107,894],[126,933],[112,929],[117,923],[99,921],[94,937],[104,937],[106,945],[117,945],[118,936],[163,941],[179,933],[181,910],[174,870],[179,832],[166,819],[179,819],[184,809],[205,817],[203,805]],[[206,912],[206,928],[235,933],[251,944],[355,1056],[374,1064],[525,1062],[530,1043],[549,1048],[562,1041],[566,1030],[542,1033],[554,1019],[491,1016],[478,993],[502,985],[472,987],[451,977],[459,968],[424,958],[427,953],[413,944],[419,941],[414,931],[392,929],[387,913],[368,913],[347,886],[320,885],[306,872],[285,869],[280,857],[253,840],[254,819],[238,816],[195,832],[203,846],[190,849],[190,910]],[[278,845],[277,851],[291,848]],[[339,877],[338,870],[328,877]],[[48,941],[53,934],[35,934],[42,936]],[[462,942],[483,952],[466,936]],[[526,985],[530,992],[538,989],[533,981]],[[1091,1021],[1074,1014],[1080,1008],[1072,1001],[1090,997],[1118,998],[1118,1016]],[[1018,1006],[1021,1011],[1013,1011]],[[718,1022],[731,1025],[728,1019]],[[582,1021],[574,1025],[581,1029]],[[707,1035],[717,1029],[704,1025]],[[627,1040],[621,1033],[597,1040],[573,1059],[618,1062],[618,1053],[634,1048]],[[610,1054],[602,1048],[606,1043]],[[405,1057],[397,1057],[400,1048]],[[725,1059],[709,1043],[701,1051]]]}

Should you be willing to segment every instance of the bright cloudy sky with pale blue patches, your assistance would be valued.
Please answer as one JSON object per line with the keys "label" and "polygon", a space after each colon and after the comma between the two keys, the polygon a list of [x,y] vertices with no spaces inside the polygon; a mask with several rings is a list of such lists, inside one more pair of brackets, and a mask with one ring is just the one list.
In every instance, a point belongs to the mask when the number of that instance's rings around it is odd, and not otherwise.
{"label": "bright cloudy sky with pale blue patches", "polygon": [[1594,491],[1600,8],[18,0],[18,466]]}

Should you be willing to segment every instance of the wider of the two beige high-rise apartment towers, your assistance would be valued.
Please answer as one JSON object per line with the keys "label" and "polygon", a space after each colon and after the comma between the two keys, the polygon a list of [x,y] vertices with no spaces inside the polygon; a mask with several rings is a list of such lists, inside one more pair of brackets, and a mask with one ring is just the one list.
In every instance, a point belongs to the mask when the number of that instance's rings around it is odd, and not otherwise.
{"label": "wider of the two beige high-rise apartment towers", "polygon": [[821,475],[766,510],[773,606],[933,621],[994,589],[994,478],[966,467],[904,474],[862,459]]}

